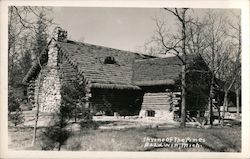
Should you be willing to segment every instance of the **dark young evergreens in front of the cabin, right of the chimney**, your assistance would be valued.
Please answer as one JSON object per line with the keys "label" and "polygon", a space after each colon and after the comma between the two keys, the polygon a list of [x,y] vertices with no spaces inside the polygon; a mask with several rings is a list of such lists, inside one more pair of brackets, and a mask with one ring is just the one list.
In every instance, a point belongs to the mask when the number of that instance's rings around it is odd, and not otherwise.
{"label": "dark young evergreens in front of the cabin, right of the chimney", "polygon": [[[84,90],[77,81],[72,81],[71,85],[63,85],[62,87],[62,103],[58,112],[53,115],[50,126],[45,129],[42,137],[42,147],[45,150],[51,150],[60,148],[67,141],[68,137],[72,134],[71,130],[67,129],[72,118],[78,118],[79,105],[84,104]],[[82,100],[81,100],[82,99]],[[82,110],[82,109],[81,109]],[[82,112],[82,116],[85,116],[84,122],[88,126],[84,128],[90,128],[92,125],[92,118],[88,110]]]}

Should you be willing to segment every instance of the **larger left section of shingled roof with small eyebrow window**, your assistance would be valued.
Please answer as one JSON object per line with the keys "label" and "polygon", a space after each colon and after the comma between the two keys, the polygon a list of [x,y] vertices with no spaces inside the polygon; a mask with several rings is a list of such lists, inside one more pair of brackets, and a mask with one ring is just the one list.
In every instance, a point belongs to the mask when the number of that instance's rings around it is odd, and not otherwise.
{"label": "larger left section of shingled roof with small eyebrow window", "polygon": [[[132,65],[137,59],[152,58],[129,51],[69,40],[57,42],[57,46],[60,54],[64,55],[74,69],[91,83],[92,88],[140,89],[132,83]],[[107,57],[114,58],[115,63],[105,64]],[[39,71],[39,65],[35,64],[23,81],[29,81],[31,76]]]}

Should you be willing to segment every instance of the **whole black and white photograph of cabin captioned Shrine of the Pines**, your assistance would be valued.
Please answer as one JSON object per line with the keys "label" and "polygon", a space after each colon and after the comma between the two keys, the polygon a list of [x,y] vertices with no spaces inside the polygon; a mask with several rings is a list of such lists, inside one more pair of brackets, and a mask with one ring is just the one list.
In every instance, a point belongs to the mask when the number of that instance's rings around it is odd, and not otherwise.
{"label": "whole black and white photograph of cabin captioned Shrine of the Pines", "polygon": [[242,8],[46,4],[6,6],[8,151],[243,152]]}

